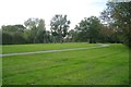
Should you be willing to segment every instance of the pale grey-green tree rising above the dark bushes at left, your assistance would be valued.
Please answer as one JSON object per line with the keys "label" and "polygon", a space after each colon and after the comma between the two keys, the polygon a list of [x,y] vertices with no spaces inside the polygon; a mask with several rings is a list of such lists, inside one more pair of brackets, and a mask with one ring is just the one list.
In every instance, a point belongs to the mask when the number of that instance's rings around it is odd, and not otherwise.
{"label": "pale grey-green tree rising above the dark bushes at left", "polygon": [[[45,21],[39,18],[28,18],[24,22],[27,29],[26,30],[26,37],[29,38],[29,42],[45,42]],[[28,32],[28,33],[27,33]]]}

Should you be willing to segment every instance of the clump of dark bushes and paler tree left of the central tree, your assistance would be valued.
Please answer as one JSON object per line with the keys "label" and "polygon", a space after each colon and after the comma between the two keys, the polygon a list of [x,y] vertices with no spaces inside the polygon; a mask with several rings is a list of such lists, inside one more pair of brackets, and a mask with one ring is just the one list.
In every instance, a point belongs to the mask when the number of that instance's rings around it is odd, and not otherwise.
{"label": "clump of dark bushes and paler tree left of the central tree", "polygon": [[43,44],[51,42],[50,32],[46,30],[45,21],[39,18],[28,18],[24,25],[2,26],[2,44]]}

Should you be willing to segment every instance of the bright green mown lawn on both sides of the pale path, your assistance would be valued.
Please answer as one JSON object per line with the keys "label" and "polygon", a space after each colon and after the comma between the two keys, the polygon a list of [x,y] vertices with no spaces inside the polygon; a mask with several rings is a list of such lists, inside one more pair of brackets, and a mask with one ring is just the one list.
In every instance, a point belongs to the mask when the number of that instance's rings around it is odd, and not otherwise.
{"label": "bright green mown lawn on both sides of the pale path", "polygon": [[[3,46],[3,53],[83,48],[88,44]],[[129,50],[122,45],[64,52],[3,57],[3,85],[129,84]]]}

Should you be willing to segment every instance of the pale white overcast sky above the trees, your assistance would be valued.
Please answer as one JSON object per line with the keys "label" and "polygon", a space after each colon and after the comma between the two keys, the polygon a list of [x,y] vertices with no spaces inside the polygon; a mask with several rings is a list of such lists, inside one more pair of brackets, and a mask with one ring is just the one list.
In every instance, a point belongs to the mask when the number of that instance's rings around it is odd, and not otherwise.
{"label": "pale white overcast sky above the trees", "polygon": [[99,16],[108,0],[0,0],[0,26],[24,24],[29,17],[44,18],[49,29],[55,14],[67,14],[70,29],[84,17]]}

